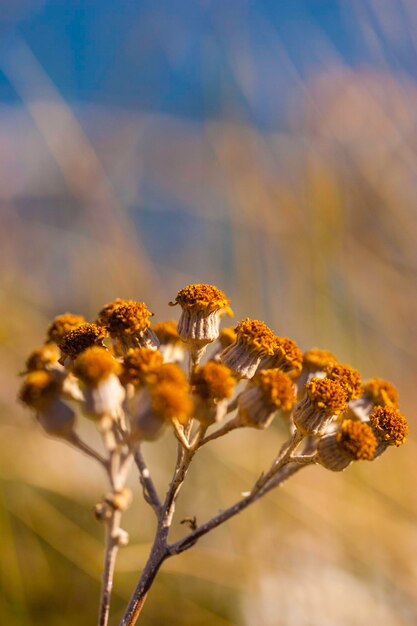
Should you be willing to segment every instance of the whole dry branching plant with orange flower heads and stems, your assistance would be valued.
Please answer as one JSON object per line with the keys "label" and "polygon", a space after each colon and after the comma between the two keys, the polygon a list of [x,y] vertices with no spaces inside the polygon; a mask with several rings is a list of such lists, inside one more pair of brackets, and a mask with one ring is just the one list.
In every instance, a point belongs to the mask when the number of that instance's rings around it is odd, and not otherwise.
{"label": "whole dry branching plant with orange flower heads and stems", "polygon": [[[49,435],[79,448],[108,476],[109,492],[95,506],[106,528],[99,626],[109,623],[116,556],[129,541],[121,521],[131,501],[125,485],[133,462],[144,500],[155,512],[156,531],[121,626],[136,624],[166,559],[192,548],[303,467],[341,471],[352,461],[376,459],[407,436],[398,393],[387,381],[362,384],[359,373],[330,352],[314,348],[303,354],[259,320],[220,330],[221,319],[232,312],[228,298],[212,285],[188,285],[170,304],[181,309],[178,324],[152,327],[143,302],[120,299],[107,304],[94,323],[60,315],[26,362],[20,399]],[[77,412],[96,423],[105,455],[80,438]],[[170,542],[176,501],[197,452],[238,428],[266,429],[277,414],[289,436],[255,484],[201,525],[196,516],[183,519],[189,532]],[[178,451],[161,497],[142,442],[156,441],[168,426]]]}

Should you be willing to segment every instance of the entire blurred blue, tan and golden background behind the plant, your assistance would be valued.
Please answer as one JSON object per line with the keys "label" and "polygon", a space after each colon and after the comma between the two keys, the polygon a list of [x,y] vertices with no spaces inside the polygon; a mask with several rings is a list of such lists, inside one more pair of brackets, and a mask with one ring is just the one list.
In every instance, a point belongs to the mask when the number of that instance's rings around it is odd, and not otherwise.
{"label": "entire blurred blue, tan and golden background behind the plant", "polygon": [[[417,624],[416,197],[413,0],[0,1],[2,624],[87,626],[99,593],[104,477],[16,403],[25,356],[60,312],[119,296],[160,321],[189,282],[392,380],[411,434],[167,562],[144,626]],[[283,436],[202,451],[178,518],[233,502]],[[163,489],[172,442],[145,453]],[[131,485],[114,624],[153,532]]]}

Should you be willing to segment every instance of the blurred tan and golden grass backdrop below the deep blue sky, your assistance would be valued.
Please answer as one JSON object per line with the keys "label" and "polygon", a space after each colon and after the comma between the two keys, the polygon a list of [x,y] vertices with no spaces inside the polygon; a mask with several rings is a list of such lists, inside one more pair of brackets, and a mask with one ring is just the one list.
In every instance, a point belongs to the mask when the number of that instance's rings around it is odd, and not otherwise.
{"label": "blurred tan and golden grass backdrop below the deep blue sky", "polygon": [[[411,436],[343,475],[302,472],[168,562],[144,626],[417,623],[415,84],[332,62],[301,85],[288,129],[268,133],[75,114],[23,44],[5,71],[23,104],[0,109],[0,622],[91,624],[99,589],[90,511],[104,479],[16,406],[27,352],[58,312],[92,317],[120,296],[161,320],[178,288],[204,281],[227,291],[237,318],[392,380]],[[282,436],[276,425],[202,451],[178,519],[235,500]],[[167,439],[146,450],[161,488],[172,451]],[[136,482],[119,609],[153,529]]]}

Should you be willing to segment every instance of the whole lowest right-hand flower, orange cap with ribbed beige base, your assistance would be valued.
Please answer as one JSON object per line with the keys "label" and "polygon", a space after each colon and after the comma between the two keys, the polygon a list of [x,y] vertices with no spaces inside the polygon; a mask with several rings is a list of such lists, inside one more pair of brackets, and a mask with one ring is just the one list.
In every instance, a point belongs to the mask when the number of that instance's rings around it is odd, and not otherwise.
{"label": "whole lowest right-hand flower, orange cap with ribbed beige base", "polygon": [[339,472],[352,461],[372,461],[376,447],[377,440],[369,424],[345,419],[336,431],[320,438],[317,462]]}

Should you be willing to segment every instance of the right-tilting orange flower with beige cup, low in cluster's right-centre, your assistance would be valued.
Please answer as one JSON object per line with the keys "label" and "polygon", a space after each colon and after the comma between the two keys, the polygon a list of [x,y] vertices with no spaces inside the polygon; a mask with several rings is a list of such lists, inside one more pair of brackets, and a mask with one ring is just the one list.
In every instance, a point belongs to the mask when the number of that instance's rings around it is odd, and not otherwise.
{"label": "right-tilting orange flower with beige cup, low in cluster's right-centre", "polygon": [[241,426],[266,428],[278,410],[294,406],[294,383],[279,369],[259,370],[238,397],[236,421]]}

